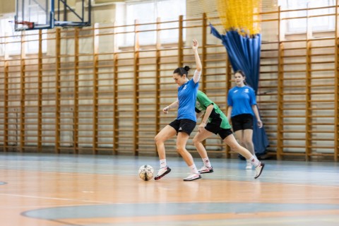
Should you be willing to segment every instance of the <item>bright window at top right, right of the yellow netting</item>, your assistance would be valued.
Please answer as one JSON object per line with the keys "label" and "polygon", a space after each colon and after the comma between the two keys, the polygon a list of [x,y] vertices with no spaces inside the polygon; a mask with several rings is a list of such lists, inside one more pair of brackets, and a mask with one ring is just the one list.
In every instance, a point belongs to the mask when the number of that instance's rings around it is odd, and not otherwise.
{"label": "bright window at top right, right of the yellow netting", "polygon": [[[335,6],[335,0],[280,0],[282,10],[319,8],[326,6]],[[295,18],[304,16],[317,16],[309,18]],[[284,18],[295,18],[287,20],[287,33],[307,32],[307,23],[311,25],[311,31],[329,31],[335,29],[335,8],[319,8],[301,11],[290,11],[285,13]],[[320,16],[333,14],[333,16]]]}

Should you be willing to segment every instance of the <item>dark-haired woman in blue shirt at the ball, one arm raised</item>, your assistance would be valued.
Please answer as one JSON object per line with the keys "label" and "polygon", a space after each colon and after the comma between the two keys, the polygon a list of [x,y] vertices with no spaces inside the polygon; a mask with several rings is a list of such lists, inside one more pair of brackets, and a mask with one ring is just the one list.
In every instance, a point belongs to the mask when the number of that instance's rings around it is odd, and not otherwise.
{"label": "dark-haired woman in blue shirt at the ball, one arm raised", "polygon": [[178,85],[178,97],[171,105],[162,109],[167,114],[169,109],[178,108],[177,119],[165,126],[157,136],[155,136],[155,144],[157,145],[157,153],[160,159],[160,169],[155,176],[158,180],[168,174],[171,169],[167,166],[165,154],[165,141],[177,134],[177,152],[182,156],[186,164],[191,169],[191,174],[184,181],[193,181],[201,179],[201,175],[194,164],[192,155],[186,150],[186,143],[189,135],[196,126],[196,93],[198,92],[199,80],[201,76],[201,61],[198,55],[198,42],[193,40],[192,49],[194,51],[194,59],[196,60],[196,71],[191,80],[188,78],[189,66],[177,68],[173,72],[174,82]]}

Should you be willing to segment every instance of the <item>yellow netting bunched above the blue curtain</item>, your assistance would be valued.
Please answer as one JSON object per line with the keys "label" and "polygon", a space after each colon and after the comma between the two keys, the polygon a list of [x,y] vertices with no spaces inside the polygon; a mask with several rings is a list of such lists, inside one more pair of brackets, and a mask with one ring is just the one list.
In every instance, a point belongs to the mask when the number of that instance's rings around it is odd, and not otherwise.
{"label": "yellow netting bunched above the blue curtain", "polygon": [[[203,7],[206,8],[208,1],[202,1]],[[216,0],[216,9],[225,30],[238,30],[244,35],[260,32],[260,8],[260,0]]]}

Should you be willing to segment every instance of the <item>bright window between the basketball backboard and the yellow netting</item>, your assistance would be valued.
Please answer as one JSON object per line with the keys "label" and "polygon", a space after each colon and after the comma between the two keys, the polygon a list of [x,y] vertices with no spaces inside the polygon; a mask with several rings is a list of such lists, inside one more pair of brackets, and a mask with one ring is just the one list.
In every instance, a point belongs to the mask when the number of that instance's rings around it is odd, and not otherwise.
{"label": "bright window between the basketball backboard and the yellow netting", "polygon": [[[157,18],[161,21],[178,20],[180,15],[186,14],[186,1],[182,0],[153,0],[144,1],[143,3],[126,4],[126,25],[131,25],[138,20],[138,23],[155,23]],[[178,28],[179,23],[163,23],[161,28]],[[140,25],[138,30],[154,30],[156,25]],[[129,30],[133,31],[133,27]],[[179,31],[177,29],[162,30],[160,40],[162,43],[177,42]],[[155,44],[157,34],[155,31],[140,32],[139,44]],[[134,34],[129,33],[124,39],[124,45],[133,45]]]}

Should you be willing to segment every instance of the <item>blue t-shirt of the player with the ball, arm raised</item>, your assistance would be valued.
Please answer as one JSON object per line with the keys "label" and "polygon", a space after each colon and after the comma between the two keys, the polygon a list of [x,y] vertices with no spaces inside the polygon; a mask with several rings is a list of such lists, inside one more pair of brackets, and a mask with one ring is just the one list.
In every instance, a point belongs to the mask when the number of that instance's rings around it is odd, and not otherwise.
{"label": "blue t-shirt of the player with the ball, arm raised", "polygon": [[186,82],[178,88],[178,116],[177,119],[191,119],[196,121],[196,93],[198,92],[199,83],[194,80]]}

